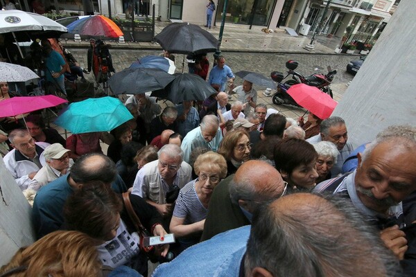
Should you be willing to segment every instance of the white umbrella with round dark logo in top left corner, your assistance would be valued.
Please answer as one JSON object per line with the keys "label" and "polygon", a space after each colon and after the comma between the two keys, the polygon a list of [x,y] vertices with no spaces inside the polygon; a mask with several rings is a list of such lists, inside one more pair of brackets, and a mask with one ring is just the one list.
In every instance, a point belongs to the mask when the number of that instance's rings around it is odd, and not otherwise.
{"label": "white umbrella with round dark logo in top left corner", "polygon": [[59,37],[67,33],[67,28],[36,13],[0,10],[0,33],[15,33],[20,41],[26,41],[28,37],[34,41],[36,38]]}

